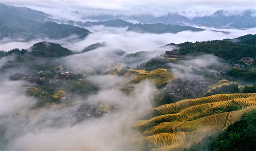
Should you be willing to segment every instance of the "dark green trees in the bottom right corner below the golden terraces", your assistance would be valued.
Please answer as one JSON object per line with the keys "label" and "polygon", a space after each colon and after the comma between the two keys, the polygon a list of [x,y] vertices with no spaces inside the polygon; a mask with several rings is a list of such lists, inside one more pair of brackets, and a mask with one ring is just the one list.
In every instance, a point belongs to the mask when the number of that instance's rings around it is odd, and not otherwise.
{"label": "dark green trees in the bottom right corner below the golden terraces", "polygon": [[246,113],[240,121],[231,124],[209,145],[211,151],[255,151],[256,111]]}

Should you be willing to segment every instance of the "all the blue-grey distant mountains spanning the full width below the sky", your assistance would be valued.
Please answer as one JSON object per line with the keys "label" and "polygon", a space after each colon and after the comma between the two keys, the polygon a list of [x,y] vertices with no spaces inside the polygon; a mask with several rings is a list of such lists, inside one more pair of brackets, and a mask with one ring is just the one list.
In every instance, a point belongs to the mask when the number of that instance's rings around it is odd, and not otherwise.
{"label": "all the blue-grey distant mountains spanning the full width below the sky", "polygon": [[[42,11],[36,11],[24,7],[7,6],[0,4],[0,40],[4,37],[22,38],[32,40],[35,38],[62,39],[77,35],[76,38],[84,38],[91,32],[83,27],[103,25],[107,27],[127,27],[127,31],[141,33],[177,33],[180,31],[203,31],[205,29],[185,25],[200,25],[225,28],[250,28],[256,27],[255,17],[250,11],[241,16],[226,17],[223,11],[217,11],[210,17],[196,17],[192,20],[178,14],[168,14],[163,17],[147,16],[95,16],[93,20],[98,22],[75,22],[72,20],[55,20],[52,16]],[[130,23],[125,20],[137,20],[141,23]],[[92,19],[88,17],[87,19]],[[111,19],[111,20],[108,20]],[[57,22],[57,23],[56,23]],[[58,24],[62,23],[62,24]],[[142,24],[143,23],[143,24]],[[69,25],[67,25],[69,24]],[[73,26],[76,25],[76,26]],[[79,27],[80,26],[80,27]]]}

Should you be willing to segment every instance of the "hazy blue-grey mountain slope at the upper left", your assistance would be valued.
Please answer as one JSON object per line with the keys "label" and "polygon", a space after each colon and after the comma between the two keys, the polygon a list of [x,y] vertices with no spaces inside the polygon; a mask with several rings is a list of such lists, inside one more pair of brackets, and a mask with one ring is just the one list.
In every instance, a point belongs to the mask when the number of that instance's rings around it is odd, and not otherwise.
{"label": "hazy blue-grey mountain slope at the upper left", "polygon": [[86,37],[90,31],[78,26],[47,22],[50,15],[28,8],[0,5],[0,28],[3,38],[35,38],[62,39],[78,35]]}

